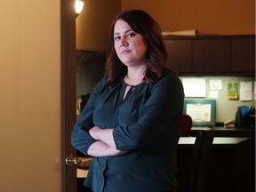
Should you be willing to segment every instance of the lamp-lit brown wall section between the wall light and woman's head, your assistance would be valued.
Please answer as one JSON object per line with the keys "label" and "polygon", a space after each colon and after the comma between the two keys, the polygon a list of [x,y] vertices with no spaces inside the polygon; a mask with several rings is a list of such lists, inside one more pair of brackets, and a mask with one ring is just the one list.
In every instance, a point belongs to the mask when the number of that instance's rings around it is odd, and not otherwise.
{"label": "lamp-lit brown wall section between the wall light and woman's head", "polygon": [[120,0],[84,0],[76,18],[76,49],[109,52],[109,27],[120,10]]}

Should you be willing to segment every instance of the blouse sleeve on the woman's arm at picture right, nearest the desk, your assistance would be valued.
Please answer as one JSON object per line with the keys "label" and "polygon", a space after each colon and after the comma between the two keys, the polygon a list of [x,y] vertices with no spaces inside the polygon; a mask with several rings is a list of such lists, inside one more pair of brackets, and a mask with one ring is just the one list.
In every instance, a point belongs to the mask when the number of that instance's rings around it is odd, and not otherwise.
{"label": "blouse sleeve on the woman's arm at picture right, nearest the desk", "polygon": [[148,100],[140,110],[138,121],[114,129],[116,148],[140,148],[156,140],[156,137],[159,140],[165,132],[164,129],[178,129],[183,101],[184,92],[180,78],[172,73],[160,77],[152,84]]}

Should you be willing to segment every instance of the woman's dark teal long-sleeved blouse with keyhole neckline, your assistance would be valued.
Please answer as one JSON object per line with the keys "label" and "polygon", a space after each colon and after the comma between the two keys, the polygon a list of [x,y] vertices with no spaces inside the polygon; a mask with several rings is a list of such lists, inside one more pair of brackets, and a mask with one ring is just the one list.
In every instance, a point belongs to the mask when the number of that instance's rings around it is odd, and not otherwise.
{"label": "woman's dark teal long-sleeved blouse with keyhole neckline", "polygon": [[123,100],[124,79],[93,90],[72,131],[72,145],[87,155],[93,140],[88,130],[114,128],[123,156],[93,157],[84,185],[94,192],[161,192],[175,190],[176,150],[184,92],[180,78],[165,72],[154,83],[136,85]]}

